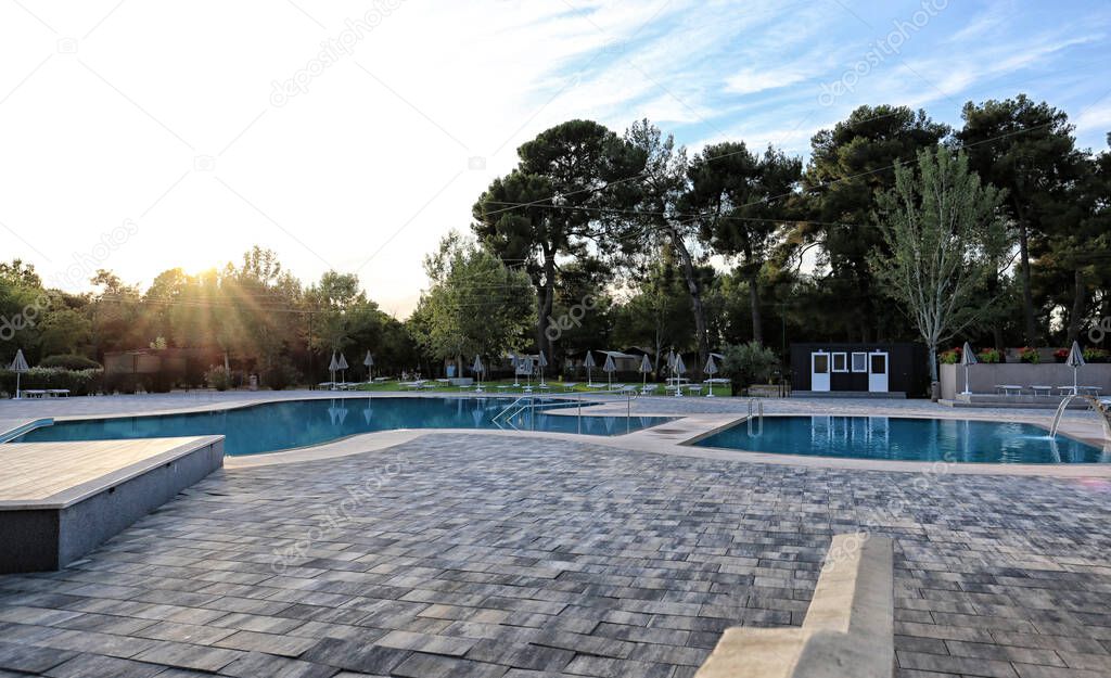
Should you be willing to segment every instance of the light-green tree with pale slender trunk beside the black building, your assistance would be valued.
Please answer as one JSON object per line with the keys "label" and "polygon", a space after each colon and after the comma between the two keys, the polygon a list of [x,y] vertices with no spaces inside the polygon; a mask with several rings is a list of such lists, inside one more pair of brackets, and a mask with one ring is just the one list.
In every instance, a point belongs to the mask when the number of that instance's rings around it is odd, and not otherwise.
{"label": "light-green tree with pale slender trunk beside the black building", "polygon": [[938,379],[938,346],[977,320],[992,299],[985,282],[998,252],[1010,247],[999,209],[1005,192],[981,186],[968,157],[943,147],[921,151],[920,168],[895,168],[895,187],[880,198],[878,226],[887,243],[871,258],[929,348]]}

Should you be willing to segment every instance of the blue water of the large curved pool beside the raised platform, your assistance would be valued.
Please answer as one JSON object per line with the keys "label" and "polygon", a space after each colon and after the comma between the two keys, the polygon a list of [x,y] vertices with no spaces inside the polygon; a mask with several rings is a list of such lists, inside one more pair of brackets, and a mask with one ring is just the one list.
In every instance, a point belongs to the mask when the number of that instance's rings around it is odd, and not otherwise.
{"label": "blue water of the large curved pool beside the raised platform", "polygon": [[[31,430],[17,442],[109,440],[222,435],[228,455],[256,455],[319,445],[356,433],[402,428],[469,428],[557,431],[618,436],[664,421],[664,417],[577,417],[546,410],[573,407],[546,399],[511,421],[493,417],[512,400],[506,398],[337,398],[267,402],[229,410],[60,421]],[[581,419],[581,423],[580,423]],[[581,426],[581,428],[580,428]]]}

